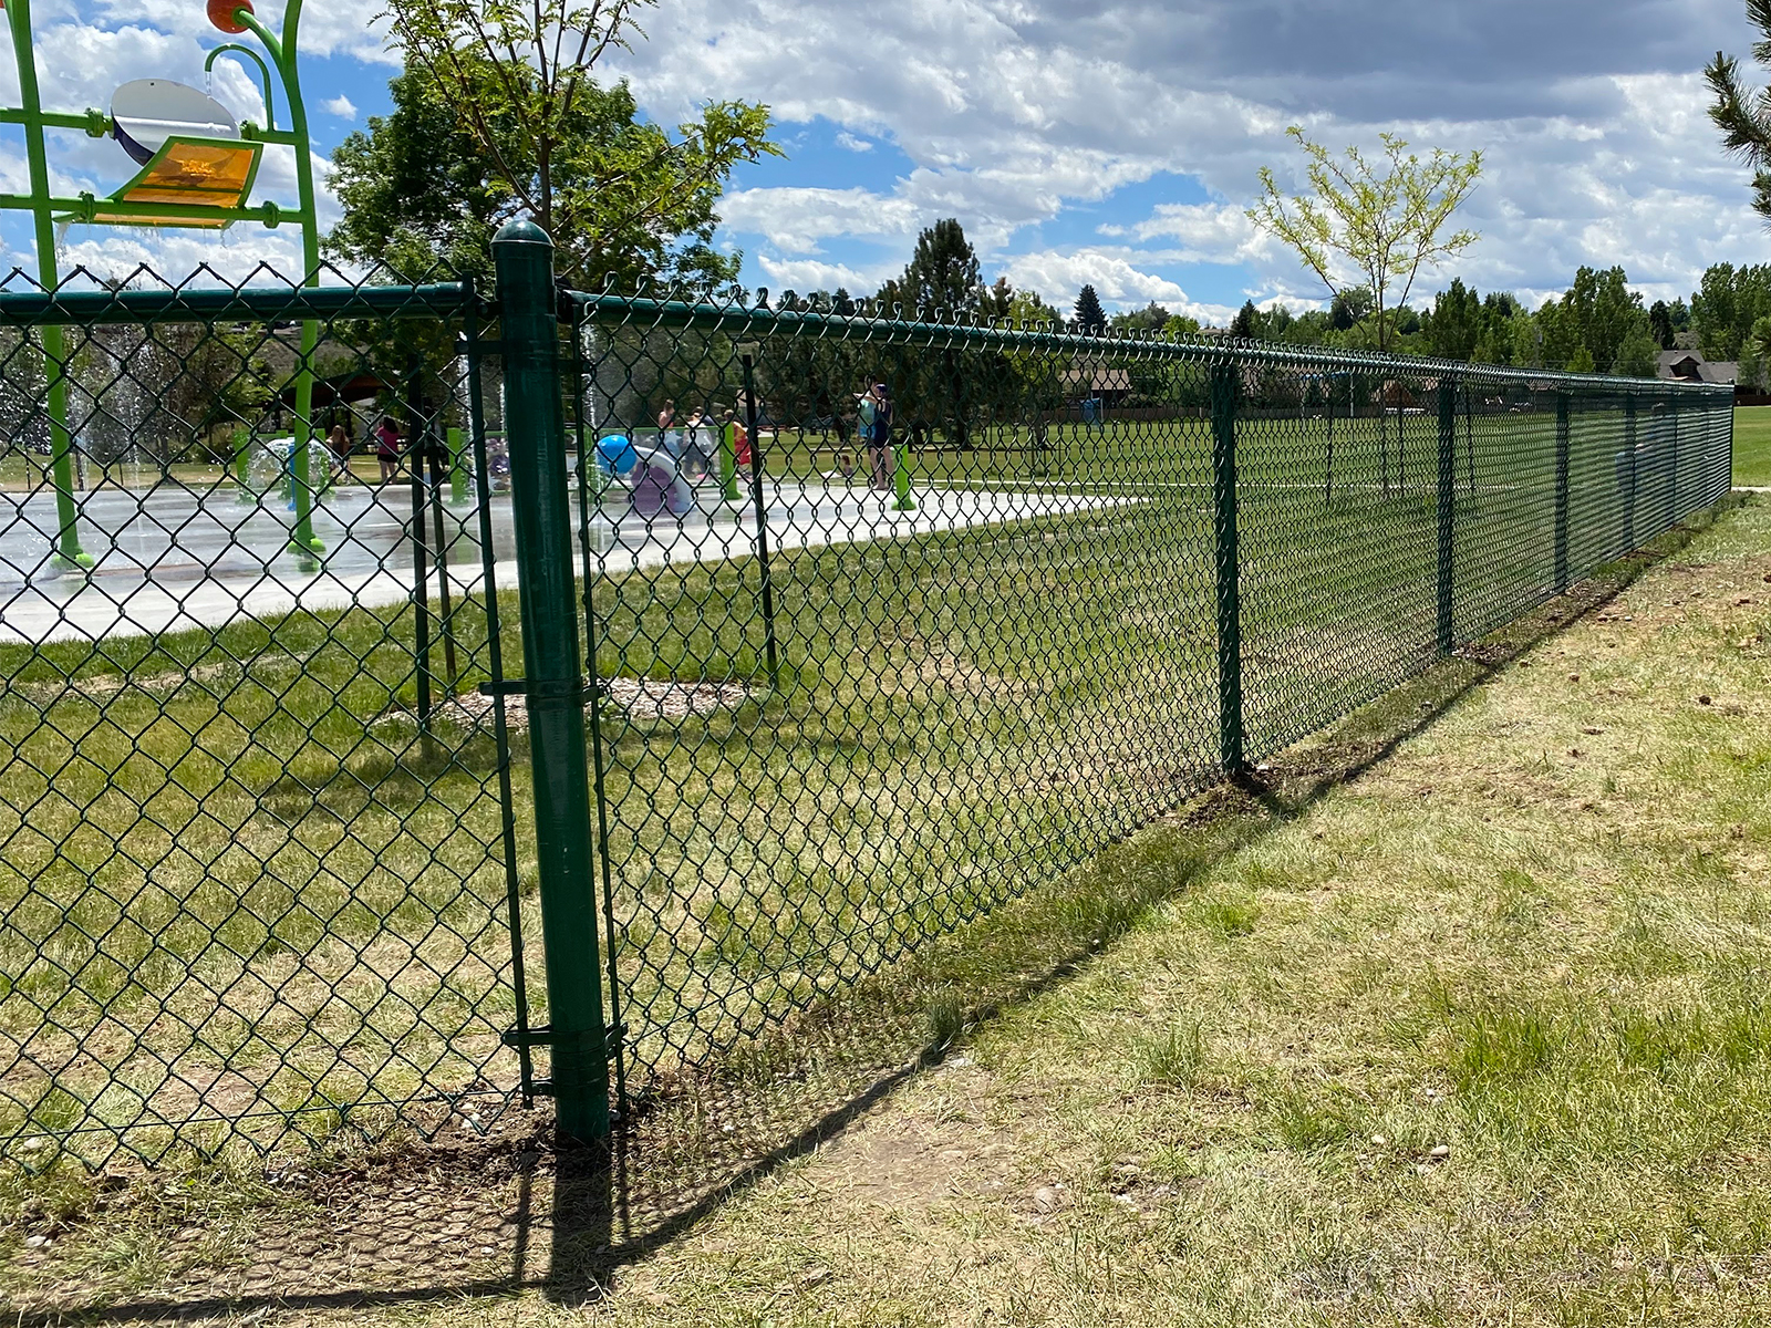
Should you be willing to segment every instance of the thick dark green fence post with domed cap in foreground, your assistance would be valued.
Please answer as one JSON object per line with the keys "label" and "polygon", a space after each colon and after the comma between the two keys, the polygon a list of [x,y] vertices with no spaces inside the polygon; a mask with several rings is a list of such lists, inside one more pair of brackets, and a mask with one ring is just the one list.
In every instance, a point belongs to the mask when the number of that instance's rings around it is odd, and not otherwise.
{"label": "thick dark green fence post with domed cap in foreground", "polygon": [[[515,521],[535,862],[547,963],[554,1123],[563,1139],[609,1133],[607,1029],[597,953],[584,657],[572,574],[572,505],[560,397],[553,241],[528,220],[492,241],[505,352],[505,434]],[[537,1031],[538,1034],[540,1031]]]}

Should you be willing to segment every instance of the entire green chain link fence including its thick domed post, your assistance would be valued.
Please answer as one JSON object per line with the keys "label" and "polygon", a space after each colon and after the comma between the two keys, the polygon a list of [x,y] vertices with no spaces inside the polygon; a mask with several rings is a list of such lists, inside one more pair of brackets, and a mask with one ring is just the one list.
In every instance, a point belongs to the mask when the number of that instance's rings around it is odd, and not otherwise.
{"label": "entire green chain link fence including its thick domed post", "polygon": [[1727,390],[494,257],[0,289],[14,1163],[600,1135],[1728,490]]}

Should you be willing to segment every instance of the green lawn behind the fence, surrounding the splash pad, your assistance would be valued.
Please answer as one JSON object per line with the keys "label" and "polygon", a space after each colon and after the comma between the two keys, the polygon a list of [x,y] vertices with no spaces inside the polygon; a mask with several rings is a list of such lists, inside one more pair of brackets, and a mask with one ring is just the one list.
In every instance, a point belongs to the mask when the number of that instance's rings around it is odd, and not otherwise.
{"label": "green lawn behind the fence, surrounding the splash pad", "polygon": [[[1702,492],[1702,427],[1654,418],[1628,503],[1622,429],[1574,421],[1574,577]],[[1206,421],[1056,444],[1050,483],[1013,471],[1017,521],[777,552],[774,689],[758,560],[597,583],[599,675],[744,689],[708,714],[604,710],[634,1087],[717,1062],[1218,777]],[[1243,427],[1250,760],[1436,657],[1436,446],[1422,416],[1360,420],[1330,469],[1325,421]],[[1450,614],[1470,639],[1555,588],[1553,413],[1481,416],[1454,462]],[[1008,487],[1025,455],[917,464]],[[501,618],[521,676],[512,597]],[[489,669],[483,606],[460,607],[457,637],[469,689]],[[0,678],[0,1135],[101,1154],[80,1131],[142,1121],[131,1142],[152,1153],[172,1126],[214,1142],[250,1117],[275,1140],[290,1114],[324,1135],[414,1098],[430,1116],[453,1094],[501,1101],[515,1008],[496,751],[473,722],[414,731],[409,611],[5,648]],[[521,760],[514,774],[526,845]]]}

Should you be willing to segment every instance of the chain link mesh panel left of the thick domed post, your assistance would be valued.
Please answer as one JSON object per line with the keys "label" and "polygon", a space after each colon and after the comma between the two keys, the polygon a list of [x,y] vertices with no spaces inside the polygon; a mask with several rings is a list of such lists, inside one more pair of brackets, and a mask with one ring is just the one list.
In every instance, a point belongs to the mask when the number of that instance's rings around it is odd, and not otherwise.
{"label": "chain link mesh panel left of the thick domed post", "polygon": [[475,294],[324,280],[0,289],[12,1162],[430,1130],[514,1089]]}

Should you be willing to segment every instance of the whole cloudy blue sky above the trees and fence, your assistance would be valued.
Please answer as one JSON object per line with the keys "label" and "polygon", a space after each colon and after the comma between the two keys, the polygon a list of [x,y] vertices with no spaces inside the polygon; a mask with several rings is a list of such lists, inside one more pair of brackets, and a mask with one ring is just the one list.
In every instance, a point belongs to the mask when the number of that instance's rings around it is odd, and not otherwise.
{"label": "whole cloudy blue sky above the trees and fence", "polygon": [[[322,158],[386,110],[379,7],[335,0],[303,21]],[[275,23],[275,0],[262,9]],[[668,0],[645,27],[620,73],[648,113],[673,122],[708,97],[774,108],[788,156],[739,172],[721,243],[776,292],[873,290],[921,227],[958,216],[988,280],[1061,306],[1082,282],[1109,308],[1156,299],[1204,320],[1250,297],[1318,303],[1243,216],[1261,165],[1296,181],[1293,122],[1335,147],[1388,129],[1484,152],[1466,209],[1482,241],[1417,303],[1452,274],[1535,301],[1580,264],[1622,264],[1670,297],[1711,262],[1771,260],[1697,73],[1718,48],[1744,55],[1741,0]],[[71,110],[108,104],[128,78],[202,85],[220,39],[198,0],[39,0],[37,32],[46,104]],[[214,94],[262,115],[237,66]],[[51,152],[73,188],[108,191],[129,172],[115,143],[67,135]],[[19,140],[0,138],[9,188],[21,165]],[[290,197],[290,165],[267,159],[264,195]],[[28,260],[18,221],[0,221],[11,262]],[[289,232],[253,227],[74,227],[62,259],[298,266]]]}

